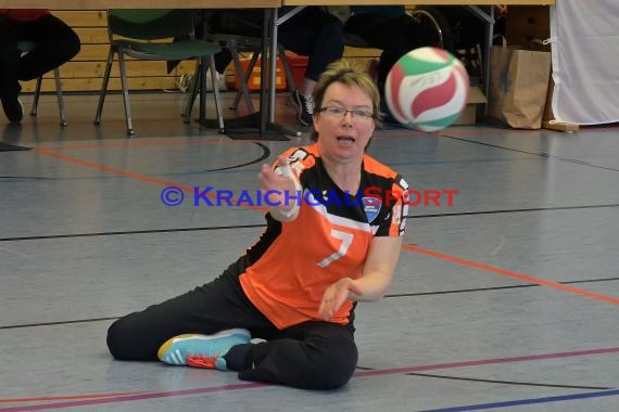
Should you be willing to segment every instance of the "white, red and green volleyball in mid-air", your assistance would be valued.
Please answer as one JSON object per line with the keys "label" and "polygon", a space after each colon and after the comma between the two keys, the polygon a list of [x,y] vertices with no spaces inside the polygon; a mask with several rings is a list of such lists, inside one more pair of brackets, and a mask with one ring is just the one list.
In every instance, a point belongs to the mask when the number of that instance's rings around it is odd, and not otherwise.
{"label": "white, red and green volleyball in mid-air", "polygon": [[467,104],[466,68],[450,52],[431,47],[409,51],[391,67],[384,99],[407,128],[437,131],[454,123]]}

